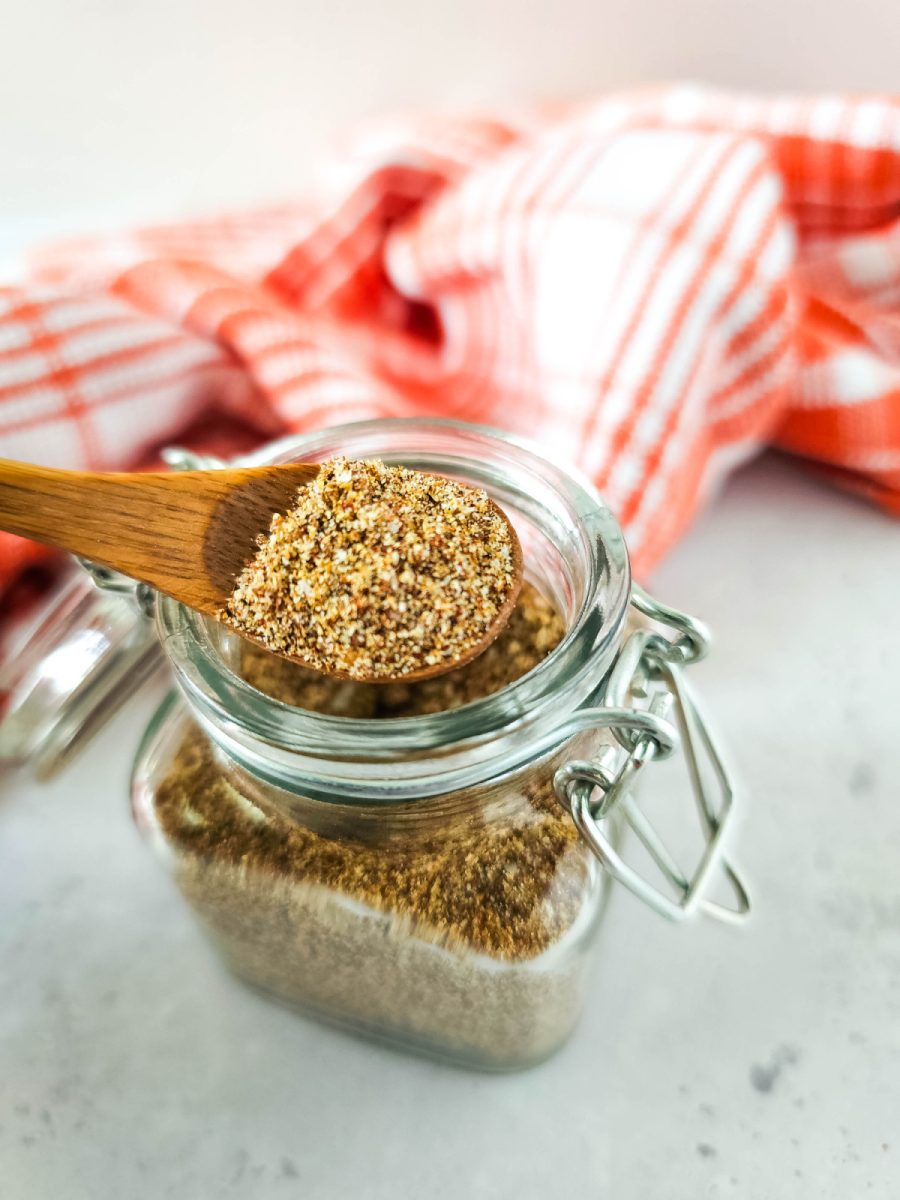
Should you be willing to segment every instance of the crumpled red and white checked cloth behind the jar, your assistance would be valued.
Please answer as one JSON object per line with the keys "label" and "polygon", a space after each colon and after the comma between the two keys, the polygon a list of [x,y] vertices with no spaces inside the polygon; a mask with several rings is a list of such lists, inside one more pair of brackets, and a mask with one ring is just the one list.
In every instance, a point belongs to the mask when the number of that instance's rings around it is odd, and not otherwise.
{"label": "crumpled red and white checked cloth behind the jar", "polygon": [[527,434],[640,572],[766,444],[900,514],[900,97],[386,120],[304,203],[56,246],[0,293],[4,456],[128,467],[217,414]]}

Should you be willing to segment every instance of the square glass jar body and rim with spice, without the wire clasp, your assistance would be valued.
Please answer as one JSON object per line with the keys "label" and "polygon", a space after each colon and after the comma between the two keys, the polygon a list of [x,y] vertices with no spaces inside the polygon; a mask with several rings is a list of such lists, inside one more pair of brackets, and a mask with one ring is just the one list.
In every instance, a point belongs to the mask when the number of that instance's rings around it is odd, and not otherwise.
{"label": "square glass jar body and rim with spice, without the wire clasp", "polygon": [[512,518],[527,595],[562,618],[562,640],[462,707],[374,718],[358,684],[329,684],[324,710],[253,686],[246,643],[160,596],[180,695],[140,746],[137,822],[248,983],[407,1049],[524,1067],[578,1018],[608,878],[553,779],[610,740],[572,732],[570,718],[590,706],[622,642],[622,534],[577,476],[473,426],[342,426],[269,461],[335,455],[484,487]]}

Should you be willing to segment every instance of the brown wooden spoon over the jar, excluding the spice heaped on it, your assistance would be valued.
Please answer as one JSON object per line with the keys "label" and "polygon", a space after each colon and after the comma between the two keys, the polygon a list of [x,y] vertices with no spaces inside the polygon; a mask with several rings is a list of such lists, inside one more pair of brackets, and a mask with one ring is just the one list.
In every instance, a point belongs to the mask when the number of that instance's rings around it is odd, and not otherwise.
{"label": "brown wooden spoon over the jar, excluding the spice heaped on it", "polygon": [[[92,474],[0,458],[0,529],[109,566],[218,619],[272,515],[292,508],[298,488],[318,472],[314,463],[289,463]],[[515,583],[485,637],[455,660],[402,676],[404,683],[470,661],[504,628],[522,580],[522,551],[515,530],[509,529]],[[242,630],[240,636],[264,646]],[[307,666],[295,655],[282,656]],[[377,682],[392,680],[379,677]]]}

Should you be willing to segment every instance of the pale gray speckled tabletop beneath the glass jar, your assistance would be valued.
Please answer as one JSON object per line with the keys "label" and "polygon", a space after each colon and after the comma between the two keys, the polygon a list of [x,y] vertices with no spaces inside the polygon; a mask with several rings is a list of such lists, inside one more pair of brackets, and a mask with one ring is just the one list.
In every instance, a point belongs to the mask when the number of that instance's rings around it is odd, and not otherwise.
{"label": "pale gray speckled tabletop beneath the glass jar", "polygon": [[744,932],[617,895],[569,1045],[404,1058],[218,968],[131,827],[144,697],[0,796],[4,1200],[900,1195],[900,530],[767,461],[656,574],[748,792]]}

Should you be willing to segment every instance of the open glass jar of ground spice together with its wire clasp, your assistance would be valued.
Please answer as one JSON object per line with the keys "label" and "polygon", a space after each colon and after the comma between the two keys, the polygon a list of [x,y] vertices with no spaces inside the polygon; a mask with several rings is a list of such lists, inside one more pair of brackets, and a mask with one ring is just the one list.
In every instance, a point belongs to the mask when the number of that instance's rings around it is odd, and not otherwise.
{"label": "open glass jar of ground spice together with its wire clasp", "polygon": [[[472,484],[505,510],[526,564],[506,629],[448,674],[362,684],[138,589],[178,691],[138,751],[134,815],[252,986],[404,1049],[526,1067],[578,1019],[611,881],[672,919],[749,911],[722,856],[731,781],[684,679],[707,635],[632,584],[593,487],[515,438],[368,421],[245,461],[338,456]],[[676,756],[702,836],[688,871],[635,794]]]}

